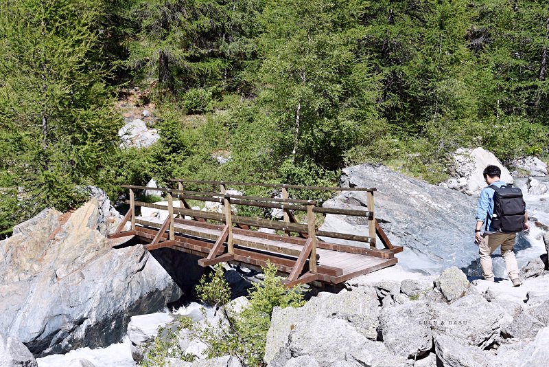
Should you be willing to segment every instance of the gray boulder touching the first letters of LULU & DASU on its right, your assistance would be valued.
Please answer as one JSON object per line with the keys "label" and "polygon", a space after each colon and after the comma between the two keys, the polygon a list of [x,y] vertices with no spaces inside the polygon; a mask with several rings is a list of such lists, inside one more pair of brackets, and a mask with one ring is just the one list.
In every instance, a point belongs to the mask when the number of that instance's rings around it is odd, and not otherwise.
{"label": "gray boulder touching the first letters of LULU & DASU on its right", "polygon": [[432,348],[430,315],[424,302],[412,301],[384,309],[379,329],[390,353],[417,358]]}

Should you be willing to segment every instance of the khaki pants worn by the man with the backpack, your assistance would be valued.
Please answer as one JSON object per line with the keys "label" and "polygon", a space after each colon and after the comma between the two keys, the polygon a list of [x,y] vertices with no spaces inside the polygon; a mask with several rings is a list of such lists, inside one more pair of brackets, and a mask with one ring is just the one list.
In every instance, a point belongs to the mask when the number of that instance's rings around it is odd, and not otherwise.
{"label": "khaki pants worn by the man with the backpack", "polygon": [[491,254],[499,245],[502,246],[502,258],[505,260],[509,279],[519,277],[517,259],[513,252],[516,236],[517,234],[515,233],[491,233],[482,235],[483,241],[478,245],[478,254],[480,255],[480,267],[482,267],[482,276],[484,279],[493,282]]}

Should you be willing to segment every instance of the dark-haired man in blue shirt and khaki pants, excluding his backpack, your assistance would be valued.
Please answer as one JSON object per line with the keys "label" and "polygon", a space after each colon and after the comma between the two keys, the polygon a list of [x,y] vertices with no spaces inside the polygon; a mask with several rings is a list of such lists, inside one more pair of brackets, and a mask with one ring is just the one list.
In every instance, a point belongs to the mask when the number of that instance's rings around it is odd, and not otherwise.
{"label": "dark-haired man in blue shirt and khaki pants, excluding his backpack", "polygon": [[[506,186],[504,181],[500,181],[502,171],[498,166],[487,166],[484,168],[484,181],[488,186],[496,186],[502,188]],[[478,244],[478,254],[480,255],[480,267],[482,267],[482,277],[485,280],[491,282],[494,281],[492,270],[492,258],[491,254],[501,245],[502,257],[505,260],[505,266],[507,268],[507,274],[509,279],[513,282],[514,287],[518,287],[522,284],[519,279],[519,269],[517,266],[517,259],[513,252],[513,246],[515,245],[516,233],[503,233],[495,232],[492,219],[494,210],[494,194],[495,190],[491,187],[484,188],[480,192],[480,198],[478,199],[478,210],[476,214],[476,229],[475,229],[475,243]],[[522,217],[521,217],[522,218]],[[484,223],[484,222],[487,223]],[[519,224],[520,225],[520,224]],[[480,234],[481,228],[484,227],[484,233]],[[528,225],[528,214],[524,211],[524,230],[527,231],[530,228]]]}

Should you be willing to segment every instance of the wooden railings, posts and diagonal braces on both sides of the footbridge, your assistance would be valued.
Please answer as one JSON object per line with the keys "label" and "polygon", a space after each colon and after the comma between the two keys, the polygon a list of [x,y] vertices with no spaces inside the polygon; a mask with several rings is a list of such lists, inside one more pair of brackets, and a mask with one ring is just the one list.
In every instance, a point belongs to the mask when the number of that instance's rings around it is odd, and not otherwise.
{"label": "wooden railings, posts and diagonal braces on both sides of the footbridge", "polygon": [[[283,231],[285,235],[290,236],[292,233],[298,234],[299,236],[306,238],[306,242],[303,245],[301,252],[296,252],[292,256],[296,256],[296,266],[292,270],[292,274],[288,277],[289,281],[294,281],[298,278],[299,272],[303,269],[305,263],[309,263],[309,271],[311,273],[316,273],[316,263],[318,256],[316,254],[317,246],[320,245],[321,248],[326,249],[336,249],[342,250],[344,252],[353,252],[358,249],[358,247],[352,247],[347,245],[334,245],[332,243],[317,243],[317,236],[323,236],[328,238],[338,238],[343,240],[358,241],[362,243],[368,243],[370,249],[362,249],[362,252],[371,254],[373,256],[379,256],[383,258],[391,258],[394,253],[399,252],[401,247],[393,247],[393,245],[388,240],[387,236],[384,234],[383,230],[379,227],[377,221],[375,221],[375,211],[374,211],[374,199],[373,193],[376,191],[375,188],[339,188],[339,187],[320,187],[320,186],[299,186],[299,185],[283,185],[283,184],[272,184],[272,183],[245,183],[245,182],[233,182],[233,181],[196,181],[196,180],[186,180],[186,179],[172,179],[178,183],[178,189],[170,188],[151,188],[147,186],[132,186],[132,185],[123,185],[123,188],[128,188],[130,195],[129,200],[126,201],[130,205],[130,210],[124,220],[120,223],[119,227],[115,234],[111,235],[111,238],[117,236],[124,236],[136,233],[136,223],[141,225],[152,225],[147,221],[141,219],[136,219],[136,207],[145,207],[145,208],[155,208],[158,210],[167,210],[168,215],[165,221],[161,224],[159,231],[156,232],[152,243],[148,245],[148,248],[154,249],[156,247],[161,247],[160,242],[165,236],[165,232],[168,233],[168,240],[174,241],[174,230],[175,230],[175,221],[174,216],[179,215],[182,218],[185,216],[190,216],[194,221],[206,222],[207,220],[213,220],[216,222],[224,223],[221,235],[217,238],[215,245],[209,251],[207,258],[199,260],[199,263],[203,266],[219,262],[220,260],[227,259],[229,260],[232,256],[235,256],[234,244],[233,244],[233,225],[240,227],[242,229],[248,230],[249,227],[264,227],[270,228],[273,230]],[[194,184],[203,184],[203,185],[219,185],[220,192],[205,192],[205,191],[193,191],[193,190],[184,190],[184,183],[194,183]],[[279,188],[282,193],[282,198],[272,198],[272,197],[255,197],[249,195],[238,195],[238,194],[229,194],[226,190],[228,186],[259,186],[266,188]],[[320,190],[320,191],[362,191],[366,192],[366,205],[367,210],[351,210],[351,209],[342,209],[342,208],[323,208],[318,206],[317,201],[313,200],[299,200],[299,199],[290,199],[288,194],[288,189],[292,190]],[[159,192],[164,192],[167,197],[167,205],[159,205],[155,203],[147,203],[144,201],[137,201],[135,198],[136,190],[154,190]],[[211,190],[210,190],[211,191]],[[180,201],[179,207],[174,206],[174,199]],[[194,201],[209,201],[214,203],[220,203],[222,210],[221,212],[205,212],[203,210],[192,209],[187,200]],[[231,205],[246,205],[250,207],[257,208],[271,208],[271,209],[280,209],[283,211],[283,221],[274,221],[268,219],[255,218],[250,216],[236,215],[231,210]],[[305,212],[307,223],[300,223],[294,212]],[[319,231],[315,225],[315,214],[336,214],[336,215],[349,215],[349,216],[361,216],[365,217],[368,221],[368,235],[361,234],[346,234],[338,232],[329,232],[329,231]],[[129,232],[121,232],[121,228],[130,221],[131,230]],[[182,221],[178,219],[177,221]],[[178,222],[183,223],[183,222]],[[207,224],[204,224],[207,225]],[[180,228],[180,227],[178,227]],[[376,248],[376,234],[381,239],[385,250],[379,250]],[[222,253],[222,248],[224,248],[224,243],[226,243],[226,252],[227,254],[218,256]],[[274,246],[276,247],[276,246]],[[267,249],[271,251],[274,247]],[[288,254],[286,249],[280,248],[281,252]],[[292,250],[295,252],[295,250]],[[275,249],[276,252],[276,249]],[[320,268],[319,268],[320,269]]]}

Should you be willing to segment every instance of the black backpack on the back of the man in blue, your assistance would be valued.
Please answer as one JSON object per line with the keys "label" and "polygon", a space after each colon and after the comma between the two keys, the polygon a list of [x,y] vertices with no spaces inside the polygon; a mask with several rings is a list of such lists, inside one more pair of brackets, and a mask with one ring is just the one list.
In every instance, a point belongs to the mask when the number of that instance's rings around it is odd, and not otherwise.
{"label": "black backpack on the back of the man in blue", "polygon": [[[496,232],[517,233],[524,230],[524,213],[526,203],[522,199],[522,191],[509,184],[498,188],[490,185],[493,194],[492,226]],[[488,214],[489,215],[489,214]],[[488,228],[488,221],[486,221]]]}

